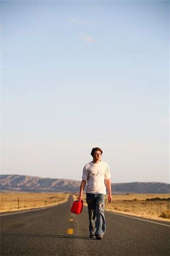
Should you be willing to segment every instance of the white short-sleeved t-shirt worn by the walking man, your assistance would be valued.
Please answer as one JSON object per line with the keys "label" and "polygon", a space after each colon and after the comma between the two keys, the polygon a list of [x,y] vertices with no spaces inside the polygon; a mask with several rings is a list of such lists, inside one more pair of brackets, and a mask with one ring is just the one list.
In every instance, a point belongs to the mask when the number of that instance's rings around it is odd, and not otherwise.
{"label": "white short-sleeved t-shirt worn by the walking man", "polygon": [[107,163],[90,162],[85,165],[82,173],[82,180],[88,181],[86,193],[101,193],[106,195],[105,180],[110,178],[110,169]]}

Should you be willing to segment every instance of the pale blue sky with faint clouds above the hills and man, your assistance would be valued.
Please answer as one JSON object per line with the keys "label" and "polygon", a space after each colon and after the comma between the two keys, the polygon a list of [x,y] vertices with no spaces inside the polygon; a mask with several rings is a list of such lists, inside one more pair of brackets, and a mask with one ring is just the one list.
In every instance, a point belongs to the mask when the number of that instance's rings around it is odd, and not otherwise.
{"label": "pale blue sky with faint clouds above the hills and man", "polygon": [[2,174],[169,182],[169,1],[1,1]]}

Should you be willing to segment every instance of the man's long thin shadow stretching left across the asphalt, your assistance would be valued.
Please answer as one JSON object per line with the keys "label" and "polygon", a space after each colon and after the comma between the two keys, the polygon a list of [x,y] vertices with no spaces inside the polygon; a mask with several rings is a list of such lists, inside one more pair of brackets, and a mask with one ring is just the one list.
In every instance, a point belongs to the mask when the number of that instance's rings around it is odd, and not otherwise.
{"label": "man's long thin shadow stretching left across the asphalt", "polygon": [[15,237],[53,237],[53,238],[72,238],[72,239],[88,239],[94,240],[94,238],[90,237],[81,237],[81,236],[73,236],[73,235],[58,235],[58,234],[2,234],[1,236],[15,236]]}

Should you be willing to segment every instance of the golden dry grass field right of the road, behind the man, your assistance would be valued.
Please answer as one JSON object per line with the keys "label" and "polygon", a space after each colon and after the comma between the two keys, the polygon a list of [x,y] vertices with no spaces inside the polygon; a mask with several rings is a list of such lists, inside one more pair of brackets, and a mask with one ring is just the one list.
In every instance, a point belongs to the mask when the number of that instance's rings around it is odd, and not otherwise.
{"label": "golden dry grass field right of the road, behind the man", "polygon": [[[78,195],[75,195],[76,199]],[[126,194],[113,195],[109,204],[106,196],[105,209],[116,213],[151,218],[170,222],[170,194]],[[86,195],[83,195],[86,204]]]}

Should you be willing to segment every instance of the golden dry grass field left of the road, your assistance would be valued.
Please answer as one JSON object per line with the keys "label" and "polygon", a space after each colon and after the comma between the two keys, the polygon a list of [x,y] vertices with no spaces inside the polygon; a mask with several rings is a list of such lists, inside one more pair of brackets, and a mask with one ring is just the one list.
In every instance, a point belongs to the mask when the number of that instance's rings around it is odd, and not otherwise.
{"label": "golden dry grass field left of the road", "polygon": [[69,195],[71,195],[71,193],[0,193],[0,212],[13,212],[15,210],[25,210],[57,205],[67,201]]}

